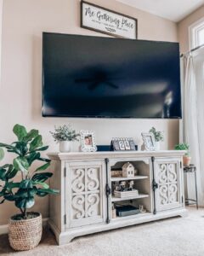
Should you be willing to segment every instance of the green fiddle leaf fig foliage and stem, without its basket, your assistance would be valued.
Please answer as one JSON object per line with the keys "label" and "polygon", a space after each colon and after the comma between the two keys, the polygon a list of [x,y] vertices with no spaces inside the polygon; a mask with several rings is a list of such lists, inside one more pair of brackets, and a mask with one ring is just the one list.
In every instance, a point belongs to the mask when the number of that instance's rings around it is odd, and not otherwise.
{"label": "green fiddle leaf fig foliage and stem, without its basket", "polygon": [[[44,172],[50,166],[50,160],[42,158],[41,152],[48,149],[43,146],[42,136],[37,130],[26,131],[23,125],[14,125],[17,141],[11,144],[0,143],[0,159],[3,158],[3,148],[8,153],[15,154],[12,164],[0,166],[0,204],[4,201],[14,201],[20,209],[20,218],[28,218],[27,209],[35,204],[36,196],[58,194],[56,189],[50,189],[46,181],[53,173]],[[36,170],[31,171],[33,162],[40,163]],[[14,182],[14,177],[20,173],[20,181]]]}

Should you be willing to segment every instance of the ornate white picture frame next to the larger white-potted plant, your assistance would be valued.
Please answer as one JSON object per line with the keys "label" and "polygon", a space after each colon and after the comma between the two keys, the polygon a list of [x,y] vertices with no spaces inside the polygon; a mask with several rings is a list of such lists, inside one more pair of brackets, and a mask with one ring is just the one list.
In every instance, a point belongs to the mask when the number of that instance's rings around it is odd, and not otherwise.
{"label": "ornate white picture frame next to the larger white-potted plant", "polygon": [[81,149],[82,152],[95,152],[97,151],[96,143],[95,143],[95,133],[94,131],[80,131],[81,138]]}

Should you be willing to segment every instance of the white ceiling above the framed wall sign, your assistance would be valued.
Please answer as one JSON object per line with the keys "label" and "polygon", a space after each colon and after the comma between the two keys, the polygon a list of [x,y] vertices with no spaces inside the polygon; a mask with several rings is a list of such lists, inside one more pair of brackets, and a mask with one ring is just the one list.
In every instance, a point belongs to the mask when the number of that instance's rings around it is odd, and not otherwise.
{"label": "white ceiling above the framed wall sign", "polygon": [[[178,22],[204,4],[204,0],[116,0],[153,15]],[[204,16],[204,14],[203,14]]]}

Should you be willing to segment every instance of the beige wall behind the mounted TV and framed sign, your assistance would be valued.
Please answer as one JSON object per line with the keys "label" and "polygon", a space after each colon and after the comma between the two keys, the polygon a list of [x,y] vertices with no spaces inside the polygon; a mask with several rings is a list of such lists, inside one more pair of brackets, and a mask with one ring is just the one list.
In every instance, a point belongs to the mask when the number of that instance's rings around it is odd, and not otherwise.
{"label": "beige wall behind the mounted TV and framed sign", "polygon": [[[90,1],[131,15],[139,21],[139,39],[177,41],[177,26],[114,0]],[[42,132],[49,151],[56,151],[48,131],[54,125],[71,122],[77,130],[90,129],[97,143],[108,144],[111,137],[133,137],[141,144],[140,134],[152,125],[165,132],[162,148],[178,143],[178,120],[161,119],[59,119],[42,118],[42,32],[64,32],[104,36],[80,27],[79,1],[75,0],[6,0],[3,6],[3,64],[0,93],[0,141],[14,141],[15,123],[37,128]],[[11,160],[8,157],[5,161]],[[35,210],[48,217],[48,198],[38,199]],[[0,224],[6,224],[17,210],[12,203],[0,206]]]}

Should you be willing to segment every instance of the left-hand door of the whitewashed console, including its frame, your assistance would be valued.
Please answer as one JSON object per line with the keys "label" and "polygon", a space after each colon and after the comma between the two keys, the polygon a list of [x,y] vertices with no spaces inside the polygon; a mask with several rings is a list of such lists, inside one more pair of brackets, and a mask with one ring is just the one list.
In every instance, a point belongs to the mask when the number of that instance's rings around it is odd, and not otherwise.
{"label": "left-hand door of the whitewashed console, including its frame", "polygon": [[105,219],[105,163],[67,162],[65,178],[66,227],[101,223]]}

